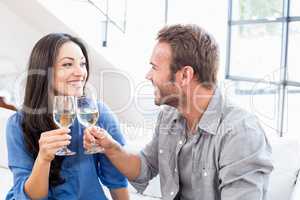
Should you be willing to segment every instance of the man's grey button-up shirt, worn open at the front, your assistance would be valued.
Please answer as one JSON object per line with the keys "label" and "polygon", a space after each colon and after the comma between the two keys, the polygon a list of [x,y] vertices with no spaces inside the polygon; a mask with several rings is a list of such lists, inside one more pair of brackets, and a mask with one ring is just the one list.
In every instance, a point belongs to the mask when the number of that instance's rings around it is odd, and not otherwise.
{"label": "man's grey button-up shirt, worn open at the front", "polygon": [[[140,175],[131,182],[139,192],[159,174],[162,199],[176,198],[181,189],[178,156],[185,144],[185,129],[185,119],[175,108],[166,106],[160,112],[152,141],[140,152]],[[192,166],[188,178],[193,200],[266,199],[273,169],[271,147],[258,119],[228,102],[219,89],[198,123],[186,160]]]}

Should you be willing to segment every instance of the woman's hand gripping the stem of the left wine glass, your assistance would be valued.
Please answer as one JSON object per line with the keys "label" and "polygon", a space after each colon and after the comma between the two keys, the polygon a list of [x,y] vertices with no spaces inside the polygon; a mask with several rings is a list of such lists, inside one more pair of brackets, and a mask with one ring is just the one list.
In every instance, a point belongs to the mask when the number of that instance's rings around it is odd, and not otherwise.
{"label": "woman's hand gripping the stem of the left wine glass", "polygon": [[70,129],[60,128],[43,132],[39,140],[38,158],[43,161],[51,162],[55,158],[55,153],[62,147],[70,144],[71,136],[68,134]]}

